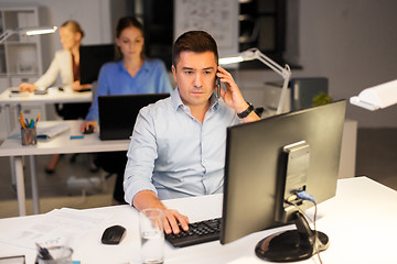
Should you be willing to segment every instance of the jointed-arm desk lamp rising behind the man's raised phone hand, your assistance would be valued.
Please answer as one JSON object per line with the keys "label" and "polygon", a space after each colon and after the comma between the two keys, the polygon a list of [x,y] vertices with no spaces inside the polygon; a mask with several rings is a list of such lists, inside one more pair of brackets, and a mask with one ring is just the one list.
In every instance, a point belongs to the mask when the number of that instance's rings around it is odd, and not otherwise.
{"label": "jointed-arm desk lamp rising behind the man's raised phone hand", "polygon": [[281,75],[283,78],[281,96],[280,96],[280,100],[279,100],[277,111],[276,111],[276,114],[279,114],[282,111],[282,105],[285,102],[285,98],[287,95],[288,82],[291,77],[291,69],[288,64],[286,64],[285,67],[281,67],[276,62],[273,62],[271,58],[269,58],[265,54],[262,54],[257,47],[249,48],[245,52],[242,52],[237,56],[219,58],[219,64],[226,65],[226,64],[234,64],[234,63],[240,63],[240,62],[247,62],[247,61],[254,61],[254,59],[259,59],[261,63],[267,65],[269,68],[271,68],[277,74]]}

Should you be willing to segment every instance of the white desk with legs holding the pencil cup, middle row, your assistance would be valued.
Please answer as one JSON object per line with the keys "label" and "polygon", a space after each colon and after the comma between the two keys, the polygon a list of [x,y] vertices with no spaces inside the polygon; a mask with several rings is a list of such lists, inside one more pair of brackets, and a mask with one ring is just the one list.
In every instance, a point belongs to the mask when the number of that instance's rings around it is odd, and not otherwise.
{"label": "white desk with legs holding the pencil cup, middle row", "polygon": [[[81,121],[43,121],[37,125],[44,125],[49,123],[67,122],[71,124],[71,130],[65,131],[62,134],[56,135],[54,139],[47,141],[39,141],[34,146],[23,146],[21,139],[13,136],[20,133],[15,130],[11,133],[0,146],[0,156],[14,156],[13,166],[15,168],[17,177],[17,194],[18,194],[18,207],[19,215],[26,215],[25,206],[25,188],[23,176],[22,156],[30,155],[47,155],[47,154],[66,154],[66,153],[90,153],[90,152],[117,152],[126,151],[129,145],[129,140],[118,141],[100,141],[98,133],[86,134],[82,140],[71,140],[71,135],[82,134],[79,132]],[[31,163],[32,165],[32,163]],[[31,173],[32,176],[32,199],[34,213],[40,212],[39,208],[39,194],[35,173]]]}

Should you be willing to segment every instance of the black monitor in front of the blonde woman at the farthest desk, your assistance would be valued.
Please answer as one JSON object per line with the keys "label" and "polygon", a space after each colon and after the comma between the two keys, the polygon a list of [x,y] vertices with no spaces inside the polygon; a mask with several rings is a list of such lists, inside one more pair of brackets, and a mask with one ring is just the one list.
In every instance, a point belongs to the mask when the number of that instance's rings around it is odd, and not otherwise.
{"label": "black monitor in front of the blonde woman at the farthest desk", "polygon": [[79,55],[81,84],[93,84],[98,79],[100,67],[115,61],[115,45],[82,45]]}

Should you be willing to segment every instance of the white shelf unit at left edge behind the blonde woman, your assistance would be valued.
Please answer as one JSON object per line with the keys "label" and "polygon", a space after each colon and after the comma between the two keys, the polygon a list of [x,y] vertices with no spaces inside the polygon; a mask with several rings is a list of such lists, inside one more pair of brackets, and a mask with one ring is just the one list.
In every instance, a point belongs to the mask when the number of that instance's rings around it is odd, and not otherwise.
{"label": "white shelf unit at left edge behind the blonde woman", "polygon": [[[39,7],[0,6],[0,34],[6,30],[43,25],[40,15]],[[42,74],[42,40],[40,35],[12,34],[0,44],[0,92],[9,87],[18,87],[21,82],[34,82]],[[12,107],[10,113],[15,113],[18,110]],[[33,118],[41,113],[45,119],[44,106],[23,106],[21,110],[26,118]],[[0,121],[6,120],[4,116],[4,111],[1,111]],[[11,114],[10,118],[11,120],[18,119],[15,114]],[[7,131],[1,128],[0,139],[6,136]]]}

